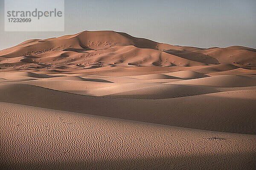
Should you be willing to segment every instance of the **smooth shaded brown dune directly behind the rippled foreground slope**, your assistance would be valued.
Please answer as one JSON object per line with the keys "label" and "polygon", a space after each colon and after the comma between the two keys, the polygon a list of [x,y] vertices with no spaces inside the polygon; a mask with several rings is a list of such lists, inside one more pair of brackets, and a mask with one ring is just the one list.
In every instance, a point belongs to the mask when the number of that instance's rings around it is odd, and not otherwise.
{"label": "smooth shaded brown dune directly behind the rippled foreground slope", "polygon": [[255,90],[157,100],[84,96],[22,84],[0,85],[0,92],[1,102],[202,130],[256,132]]}

